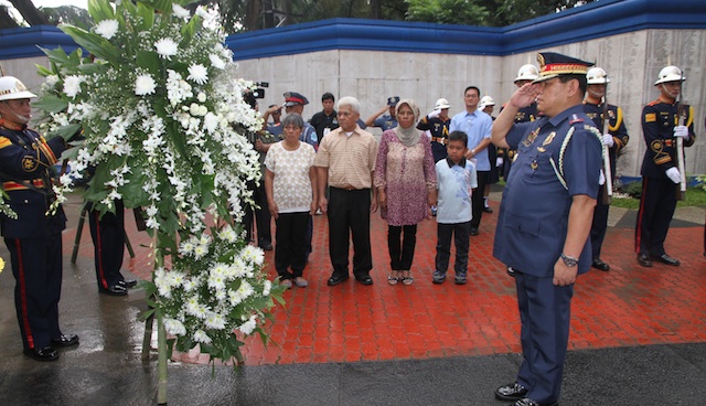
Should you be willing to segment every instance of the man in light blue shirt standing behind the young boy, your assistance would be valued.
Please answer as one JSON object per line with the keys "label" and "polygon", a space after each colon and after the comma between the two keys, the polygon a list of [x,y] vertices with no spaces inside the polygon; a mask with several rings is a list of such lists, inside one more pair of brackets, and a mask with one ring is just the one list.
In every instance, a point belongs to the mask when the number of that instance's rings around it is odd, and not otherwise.
{"label": "man in light blue shirt standing behind the young boy", "polygon": [[493,119],[478,109],[480,95],[481,90],[478,87],[467,87],[466,92],[463,92],[466,111],[453,116],[451,126],[449,126],[449,131],[463,131],[468,135],[468,152],[466,153],[466,159],[475,160],[478,188],[473,190],[471,197],[471,210],[473,213],[473,217],[471,218],[471,235],[478,235],[481,215],[483,214],[483,189],[490,175],[488,146],[490,146],[490,136],[493,128]]}

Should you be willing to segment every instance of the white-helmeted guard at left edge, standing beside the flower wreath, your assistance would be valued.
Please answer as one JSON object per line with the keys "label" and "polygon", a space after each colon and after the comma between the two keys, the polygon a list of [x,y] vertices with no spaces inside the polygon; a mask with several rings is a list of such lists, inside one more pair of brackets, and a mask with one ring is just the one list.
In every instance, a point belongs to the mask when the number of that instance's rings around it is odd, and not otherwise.
{"label": "white-helmeted guard at left edge, standing beside the flower wreath", "polygon": [[78,336],[58,328],[62,291],[62,229],[66,216],[54,202],[50,168],[64,151],[61,137],[44,140],[28,128],[30,98],[18,78],[0,77],[0,180],[14,214],[0,215],[17,280],[14,306],[24,354],[38,361],[58,359],[56,346],[78,344]]}

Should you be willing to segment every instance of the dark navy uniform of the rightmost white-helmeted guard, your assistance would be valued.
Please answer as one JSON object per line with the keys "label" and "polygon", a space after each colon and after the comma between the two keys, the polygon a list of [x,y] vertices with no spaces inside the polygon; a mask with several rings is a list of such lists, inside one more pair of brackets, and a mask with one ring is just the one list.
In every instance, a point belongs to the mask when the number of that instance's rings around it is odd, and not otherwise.
{"label": "dark navy uniform of the rightmost white-helmeted guard", "polygon": [[[677,165],[676,138],[674,127],[678,122],[678,103],[670,104],[660,99],[642,109],[642,132],[648,149],[642,161],[642,197],[635,224],[635,252],[660,257],[665,254],[664,241],[676,207],[676,188],[666,170]],[[688,139],[684,147],[691,147],[694,133],[694,108],[684,105],[685,126]]]}

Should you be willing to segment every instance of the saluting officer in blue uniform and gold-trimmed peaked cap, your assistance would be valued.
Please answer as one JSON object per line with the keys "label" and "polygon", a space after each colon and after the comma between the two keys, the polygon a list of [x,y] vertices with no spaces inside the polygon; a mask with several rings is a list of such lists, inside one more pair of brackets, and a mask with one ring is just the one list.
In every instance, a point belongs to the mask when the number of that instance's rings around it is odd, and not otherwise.
{"label": "saluting officer in blue uniform and gold-trimmed peaked cap", "polygon": [[[601,135],[584,114],[588,62],[538,54],[539,77],[518,88],[495,119],[493,142],[517,150],[503,190],[493,256],[515,269],[523,362],[495,397],[515,406],[557,405],[577,275],[590,269]],[[544,117],[513,124],[537,100]]]}

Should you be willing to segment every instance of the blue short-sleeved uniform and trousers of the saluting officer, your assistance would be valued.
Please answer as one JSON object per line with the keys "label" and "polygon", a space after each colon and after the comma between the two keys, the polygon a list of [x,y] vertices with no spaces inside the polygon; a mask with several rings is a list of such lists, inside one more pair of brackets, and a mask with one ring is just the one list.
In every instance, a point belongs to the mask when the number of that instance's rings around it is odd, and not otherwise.
{"label": "blue short-sleeved uniform and trousers of the saluting officer", "polygon": [[[571,285],[553,285],[554,265],[573,196],[598,196],[600,132],[582,110],[577,105],[553,118],[515,124],[505,138],[517,156],[503,190],[493,256],[516,270],[524,355],[517,383],[542,404],[559,398],[574,295]],[[590,264],[587,241],[578,273]]]}

